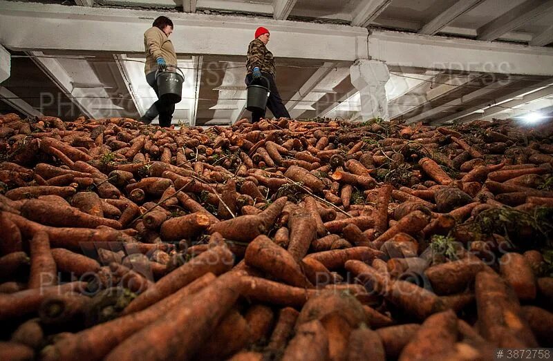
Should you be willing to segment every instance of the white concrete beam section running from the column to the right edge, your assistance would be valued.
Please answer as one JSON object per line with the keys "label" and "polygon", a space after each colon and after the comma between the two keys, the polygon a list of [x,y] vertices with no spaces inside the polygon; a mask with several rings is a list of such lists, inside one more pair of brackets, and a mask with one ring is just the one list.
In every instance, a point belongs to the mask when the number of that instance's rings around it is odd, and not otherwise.
{"label": "white concrete beam section running from the column to the right edge", "polygon": [[368,52],[388,66],[553,76],[553,49],[545,47],[375,30]]}

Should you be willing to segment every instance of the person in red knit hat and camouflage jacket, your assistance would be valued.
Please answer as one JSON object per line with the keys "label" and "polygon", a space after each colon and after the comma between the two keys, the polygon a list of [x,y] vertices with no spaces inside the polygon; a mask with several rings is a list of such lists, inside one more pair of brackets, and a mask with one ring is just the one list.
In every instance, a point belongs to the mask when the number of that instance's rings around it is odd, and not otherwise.
{"label": "person in red knit hat and camouflage jacket", "polygon": [[[265,77],[269,81],[270,95],[267,101],[267,107],[271,110],[274,117],[290,118],[288,110],[286,110],[284,104],[282,104],[281,95],[277,89],[275,83],[276,70],[274,67],[274,56],[272,52],[267,49],[267,43],[270,39],[270,32],[263,26],[260,26],[255,30],[255,39],[250,42],[250,46],[247,48],[247,61],[246,61],[246,79],[247,85],[252,82],[259,82],[259,84],[265,85],[260,81],[261,77]],[[252,123],[259,121],[259,119],[265,117],[265,110],[252,113]]]}

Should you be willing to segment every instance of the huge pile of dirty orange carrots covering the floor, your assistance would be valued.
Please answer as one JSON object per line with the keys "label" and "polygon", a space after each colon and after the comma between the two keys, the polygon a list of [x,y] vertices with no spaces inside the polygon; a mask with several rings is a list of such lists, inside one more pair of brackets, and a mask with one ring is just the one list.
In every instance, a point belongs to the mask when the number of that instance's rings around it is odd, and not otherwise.
{"label": "huge pile of dirty orange carrots covering the floor", "polygon": [[553,347],[553,123],[0,115],[2,360]]}

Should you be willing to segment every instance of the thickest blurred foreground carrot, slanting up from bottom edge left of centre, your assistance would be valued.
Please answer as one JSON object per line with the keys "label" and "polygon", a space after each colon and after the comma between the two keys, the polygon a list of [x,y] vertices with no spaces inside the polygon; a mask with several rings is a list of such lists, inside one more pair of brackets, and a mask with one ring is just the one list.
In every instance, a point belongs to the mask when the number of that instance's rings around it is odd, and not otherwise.
{"label": "thickest blurred foreground carrot, slanting up from bottom edge left of centre", "polygon": [[[233,273],[218,277],[171,313],[124,340],[105,360],[190,360],[238,299],[239,277]],[[183,328],[187,332],[178,332]],[[160,338],[167,333],[173,336]]]}

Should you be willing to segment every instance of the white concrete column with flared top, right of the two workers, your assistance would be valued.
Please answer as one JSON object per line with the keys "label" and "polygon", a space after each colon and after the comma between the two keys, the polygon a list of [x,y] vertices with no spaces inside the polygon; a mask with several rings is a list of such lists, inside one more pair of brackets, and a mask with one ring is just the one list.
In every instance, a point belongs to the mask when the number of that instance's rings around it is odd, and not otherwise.
{"label": "white concrete column with flared top, right of the two workers", "polygon": [[381,117],[388,120],[386,82],[390,79],[388,66],[382,61],[358,59],[350,67],[351,84],[361,95],[361,115],[364,121]]}

